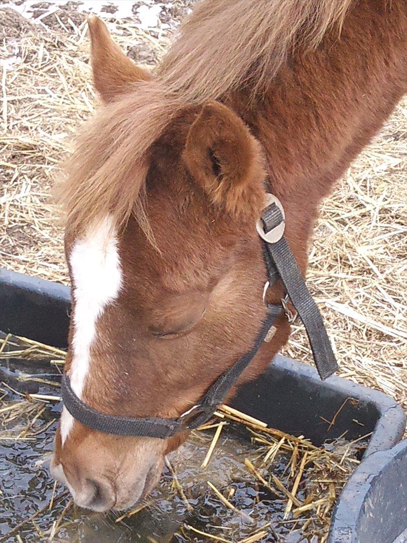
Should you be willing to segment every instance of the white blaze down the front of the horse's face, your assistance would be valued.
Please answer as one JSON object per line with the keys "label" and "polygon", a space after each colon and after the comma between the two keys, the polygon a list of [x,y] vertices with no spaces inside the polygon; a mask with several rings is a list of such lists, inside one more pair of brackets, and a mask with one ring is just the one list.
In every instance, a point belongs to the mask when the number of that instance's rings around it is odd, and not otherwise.
{"label": "white blaze down the front of the horse's face", "polygon": [[[110,217],[90,228],[78,239],[69,257],[73,279],[71,387],[80,398],[89,371],[90,347],[95,339],[96,322],[104,308],[117,298],[122,282],[116,231]],[[62,445],[73,426],[73,418],[64,408],[61,414]]]}

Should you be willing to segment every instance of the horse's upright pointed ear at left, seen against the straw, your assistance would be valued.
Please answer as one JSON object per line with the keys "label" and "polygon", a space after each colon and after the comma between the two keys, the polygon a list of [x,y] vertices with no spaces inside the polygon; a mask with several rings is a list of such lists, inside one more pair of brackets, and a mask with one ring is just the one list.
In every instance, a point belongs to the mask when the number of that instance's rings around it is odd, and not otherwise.
{"label": "horse's upright pointed ear at left, seen against the straw", "polygon": [[111,102],[136,81],[151,79],[151,75],[137,67],[111,39],[103,21],[91,16],[87,24],[90,30],[93,81],[104,102]]}

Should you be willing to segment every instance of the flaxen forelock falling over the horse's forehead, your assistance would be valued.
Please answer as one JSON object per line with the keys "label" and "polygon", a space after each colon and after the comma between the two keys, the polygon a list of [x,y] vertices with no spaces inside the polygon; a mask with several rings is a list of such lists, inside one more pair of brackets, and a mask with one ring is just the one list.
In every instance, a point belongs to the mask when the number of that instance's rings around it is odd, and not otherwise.
{"label": "flaxen forelock falling over the horse's forehead", "polygon": [[99,108],[65,161],[65,175],[55,195],[66,229],[75,235],[108,215],[112,226],[121,228],[134,214],[152,239],[143,206],[149,148],[179,110],[179,103],[166,98],[159,83],[142,81],[136,87]]}

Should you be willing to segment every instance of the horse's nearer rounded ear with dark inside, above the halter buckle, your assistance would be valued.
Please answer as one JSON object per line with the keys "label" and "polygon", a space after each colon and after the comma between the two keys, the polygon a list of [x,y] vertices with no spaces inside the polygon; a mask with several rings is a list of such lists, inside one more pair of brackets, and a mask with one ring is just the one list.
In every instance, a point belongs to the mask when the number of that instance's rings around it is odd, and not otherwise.
{"label": "horse's nearer rounded ear with dark inside, above the halter buckle", "polygon": [[227,106],[213,101],[203,106],[183,157],[213,204],[235,216],[259,216],[265,197],[260,144]]}

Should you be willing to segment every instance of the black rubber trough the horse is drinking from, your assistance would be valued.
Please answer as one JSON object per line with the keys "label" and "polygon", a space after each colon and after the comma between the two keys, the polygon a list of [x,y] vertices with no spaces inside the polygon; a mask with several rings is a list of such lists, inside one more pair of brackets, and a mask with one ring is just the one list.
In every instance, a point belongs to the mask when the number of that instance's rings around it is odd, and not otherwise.
{"label": "black rubber trough the horse is drinking from", "polygon": [[[1,270],[0,330],[65,347],[70,311],[68,287]],[[328,425],[343,401],[335,424]],[[233,407],[316,445],[373,432],[362,462],[342,490],[328,543],[405,541],[407,441],[402,408],[389,396],[340,377],[320,381],[305,364],[276,356],[264,374],[240,389]],[[356,424],[354,421],[358,421]],[[361,426],[362,425],[362,426]]]}

